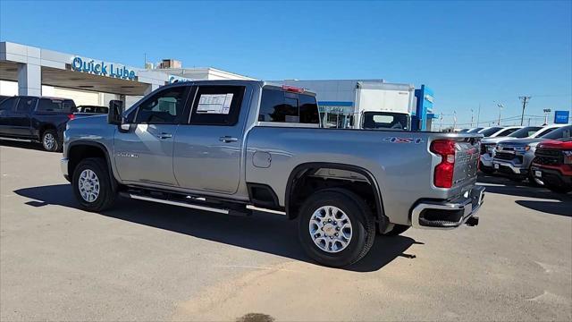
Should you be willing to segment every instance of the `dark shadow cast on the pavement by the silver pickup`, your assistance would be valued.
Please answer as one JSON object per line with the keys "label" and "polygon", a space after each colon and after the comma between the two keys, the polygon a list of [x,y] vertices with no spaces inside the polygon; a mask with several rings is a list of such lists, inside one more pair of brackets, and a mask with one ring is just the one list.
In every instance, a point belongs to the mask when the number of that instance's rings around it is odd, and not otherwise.
{"label": "dark shadow cast on the pavement by the silver pickup", "polygon": [[[69,184],[24,188],[14,192],[35,199],[26,202],[32,207],[59,205],[79,208]],[[299,246],[297,222],[280,215],[258,211],[253,216],[228,216],[121,198],[114,209],[97,215],[313,263]],[[414,255],[403,253],[414,243],[420,242],[406,236],[378,236],[366,258],[345,269],[371,272],[398,256],[415,258]]]}

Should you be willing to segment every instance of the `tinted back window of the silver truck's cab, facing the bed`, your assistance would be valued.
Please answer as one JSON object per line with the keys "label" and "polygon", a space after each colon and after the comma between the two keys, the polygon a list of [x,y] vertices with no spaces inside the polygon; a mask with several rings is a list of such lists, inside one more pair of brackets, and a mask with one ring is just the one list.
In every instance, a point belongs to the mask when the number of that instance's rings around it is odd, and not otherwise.
{"label": "tinted back window of the silver truck's cab, facing the bed", "polygon": [[276,89],[263,89],[259,122],[319,124],[315,97]]}

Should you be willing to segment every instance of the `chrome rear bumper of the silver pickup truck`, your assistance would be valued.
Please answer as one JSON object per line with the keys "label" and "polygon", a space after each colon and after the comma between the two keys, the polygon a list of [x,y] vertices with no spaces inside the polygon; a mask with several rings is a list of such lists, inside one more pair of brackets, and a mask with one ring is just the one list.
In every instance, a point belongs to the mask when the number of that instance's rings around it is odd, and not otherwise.
{"label": "chrome rear bumper of the silver pickup truck", "polygon": [[423,200],[411,210],[411,225],[423,229],[452,229],[460,225],[478,225],[476,212],[484,199],[484,187],[475,186],[467,196],[435,201]]}

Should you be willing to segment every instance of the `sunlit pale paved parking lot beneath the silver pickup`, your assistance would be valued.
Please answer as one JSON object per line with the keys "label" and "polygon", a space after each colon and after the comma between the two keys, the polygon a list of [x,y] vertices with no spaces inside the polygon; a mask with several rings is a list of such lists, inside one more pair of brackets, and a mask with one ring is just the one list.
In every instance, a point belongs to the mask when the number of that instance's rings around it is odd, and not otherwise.
{"label": "sunlit pale paved parking lot beneath the silver pickup", "polygon": [[378,238],[332,269],[278,215],[81,211],[60,154],[0,145],[3,321],[572,319],[572,194],[484,177],[479,226]]}

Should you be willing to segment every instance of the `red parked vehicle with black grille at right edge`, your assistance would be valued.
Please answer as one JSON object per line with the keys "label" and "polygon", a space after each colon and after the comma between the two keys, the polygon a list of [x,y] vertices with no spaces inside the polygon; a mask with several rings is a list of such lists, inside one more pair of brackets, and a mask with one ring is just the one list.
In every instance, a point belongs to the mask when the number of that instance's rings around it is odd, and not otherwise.
{"label": "red parked vehicle with black grille at right edge", "polygon": [[572,138],[543,141],[534,156],[531,172],[535,178],[551,191],[572,191]]}

